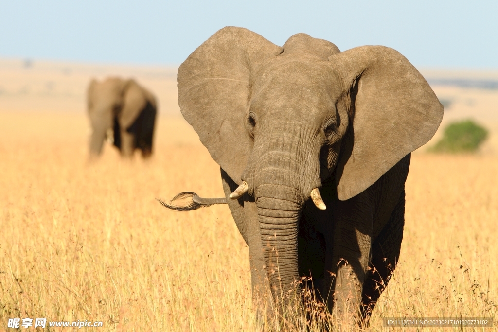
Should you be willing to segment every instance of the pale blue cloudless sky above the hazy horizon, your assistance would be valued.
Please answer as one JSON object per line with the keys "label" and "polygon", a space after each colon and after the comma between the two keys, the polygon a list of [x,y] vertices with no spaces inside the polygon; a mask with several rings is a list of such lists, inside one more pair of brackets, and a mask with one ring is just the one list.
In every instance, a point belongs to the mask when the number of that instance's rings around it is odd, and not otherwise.
{"label": "pale blue cloudless sky above the hazy horizon", "polygon": [[278,45],[305,32],[421,67],[498,68],[497,0],[0,0],[0,57],[178,65],[227,25]]}

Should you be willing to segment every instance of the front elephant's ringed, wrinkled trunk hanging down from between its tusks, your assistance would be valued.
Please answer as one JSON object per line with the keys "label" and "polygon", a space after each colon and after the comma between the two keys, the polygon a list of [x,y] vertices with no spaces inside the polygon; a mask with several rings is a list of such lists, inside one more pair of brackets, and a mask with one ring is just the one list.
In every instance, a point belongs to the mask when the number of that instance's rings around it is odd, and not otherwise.
{"label": "front elephant's ringed, wrinkled trunk hanging down from between its tusks", "polygon": [[302,183],[316,181],[304,180],[306,172],[286,168],[270,166],[257,173],[256,179],[266,179],[256,180],[254,190],[263,256],[272,297],[281,312],[300,298],[298,229],[311,192]]}

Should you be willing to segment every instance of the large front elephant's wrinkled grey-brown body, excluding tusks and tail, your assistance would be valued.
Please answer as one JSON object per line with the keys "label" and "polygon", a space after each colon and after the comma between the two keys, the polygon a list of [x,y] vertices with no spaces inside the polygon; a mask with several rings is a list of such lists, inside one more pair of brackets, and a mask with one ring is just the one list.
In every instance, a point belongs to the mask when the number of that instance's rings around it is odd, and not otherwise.
{"label": "large front elephant's wrinkled grey-brown body, excluding tusks and tail", "polygon": [[420,73],[383,46],[341,53],[300,33],[279,47],[226,27],[180,66],[178,99],[222,168],[254,298],[281,313],[311,276],[334,314],[368,317],[398,260],[410,152],[443,116]]}

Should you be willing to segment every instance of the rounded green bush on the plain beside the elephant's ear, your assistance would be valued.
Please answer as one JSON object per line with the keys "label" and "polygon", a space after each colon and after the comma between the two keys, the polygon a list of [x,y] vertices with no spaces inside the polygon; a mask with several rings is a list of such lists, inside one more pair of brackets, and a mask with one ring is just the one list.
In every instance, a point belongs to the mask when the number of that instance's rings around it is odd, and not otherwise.
{"label": "rounded green bush on the plain beside the elephant's ear", "polygon": [[443,138],[430,150],[433,152],[475,152],[488,137],[488,130],[472,120],[450,123]]}

